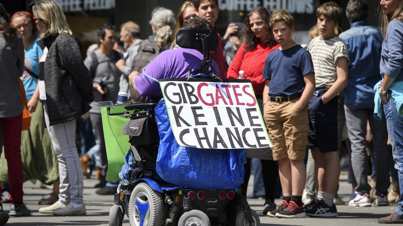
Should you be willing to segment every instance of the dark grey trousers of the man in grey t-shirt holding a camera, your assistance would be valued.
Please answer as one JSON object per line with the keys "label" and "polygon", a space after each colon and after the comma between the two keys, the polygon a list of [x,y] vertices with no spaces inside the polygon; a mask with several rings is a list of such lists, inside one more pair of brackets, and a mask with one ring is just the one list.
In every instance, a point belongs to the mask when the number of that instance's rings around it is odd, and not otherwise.
{"label": "dark grey trousers of the man in grey t-shirt holding a camera", "polygon": [[91,120],[92,128],[95,131],[95,139],[98,140],[98,144],[100,146],[98,152],[98,156],[100,157],[99,167],[101,168],[102,176],[106,177],[106,173],[108,172],[108,158],[106,157],[105,137],[104,129],[102,127],[101,114],[89,113],[89,119]]}

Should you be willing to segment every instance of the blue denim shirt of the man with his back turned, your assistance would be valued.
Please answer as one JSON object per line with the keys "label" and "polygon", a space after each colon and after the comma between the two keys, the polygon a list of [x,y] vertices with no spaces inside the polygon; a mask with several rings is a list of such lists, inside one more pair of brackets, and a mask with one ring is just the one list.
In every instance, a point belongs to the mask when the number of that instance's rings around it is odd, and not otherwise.
{"label": "blue denim shirt of the man with his back turned", "polygon": [[349,48],[349,83],[344,94],[349,104],[358,108],[374,108],[373,87],[379,81],[382,49],[380,29],[365,21],[351,24],[339,35]]}

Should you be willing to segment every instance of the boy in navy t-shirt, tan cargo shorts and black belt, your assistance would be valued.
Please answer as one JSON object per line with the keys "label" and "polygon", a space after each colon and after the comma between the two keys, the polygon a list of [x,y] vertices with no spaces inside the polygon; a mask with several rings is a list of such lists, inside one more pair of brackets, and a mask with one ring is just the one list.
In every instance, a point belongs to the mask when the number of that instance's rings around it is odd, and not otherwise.
{"label": "boy in navy t-shirt, tan cargo shorts and black belt", "polygon": [[278,160],[283,203],[268,216],[305,217],[302,192],[306,170],[303,159],[308,144],[307,103],[315,91],[314,66],[310,53],[292,39],[294,19],[277,10],[270,19],[273,35],[280,48],[269,53],[264,65],[264,120]]}

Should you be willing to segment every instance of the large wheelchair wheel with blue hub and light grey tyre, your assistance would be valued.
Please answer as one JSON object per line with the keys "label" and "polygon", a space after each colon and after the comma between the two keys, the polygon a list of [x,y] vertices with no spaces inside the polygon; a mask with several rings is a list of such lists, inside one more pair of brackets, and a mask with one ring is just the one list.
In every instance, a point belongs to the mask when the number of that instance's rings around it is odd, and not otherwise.
{"label": "large wheelchair wheel with blue hub and light grey tyre", "polygon": [[131,226],[160,226],[164,217],[164,200],[161,193],[147,183],[139,183],[133,189],[129,202]]}

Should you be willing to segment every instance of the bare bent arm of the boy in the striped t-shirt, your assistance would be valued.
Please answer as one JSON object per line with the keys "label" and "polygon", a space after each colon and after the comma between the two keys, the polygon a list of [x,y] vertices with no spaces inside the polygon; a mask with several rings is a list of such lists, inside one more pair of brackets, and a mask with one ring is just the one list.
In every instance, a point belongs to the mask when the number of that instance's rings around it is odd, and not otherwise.
{"label": "bare bent arm of the boy in the striped t-shirt", "polygon": [[348,71],[349,71],[349,62],[346,58],[340,57],[336,62],[336,70],[337,70],[337,80],[334,82],[332,87],[330,87],[323,95],[322,102],[324,104],[328,103],[331,99],[339,95],[344,88],[346,88],[348,84]]}

